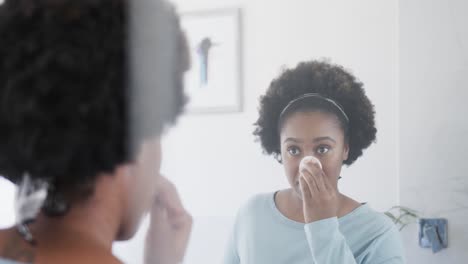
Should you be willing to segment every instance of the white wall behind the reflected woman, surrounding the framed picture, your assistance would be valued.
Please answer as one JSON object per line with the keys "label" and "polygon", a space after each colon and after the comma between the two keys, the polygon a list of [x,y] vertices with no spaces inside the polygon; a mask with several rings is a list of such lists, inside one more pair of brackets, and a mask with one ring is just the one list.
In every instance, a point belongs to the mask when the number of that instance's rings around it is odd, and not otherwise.
{"label": "white wall behind the reflected woman, surrounding the framed picture", "polygon": [[[257,99],[283,65],[328,57],[365,83],[377,108],[378,143],[344,171],[341,188],[378,210],[398,203],[396,0],[175,2],[180,11],[241,7],[244,17],[245,111],[186,116],[164,140],[163,170],[195,217],[186,263],[220,263],[238,207],[255,193],[287,187],[282,167],[251,135]],[[116,251],[129,263],[140,259],[123,245]]]}

